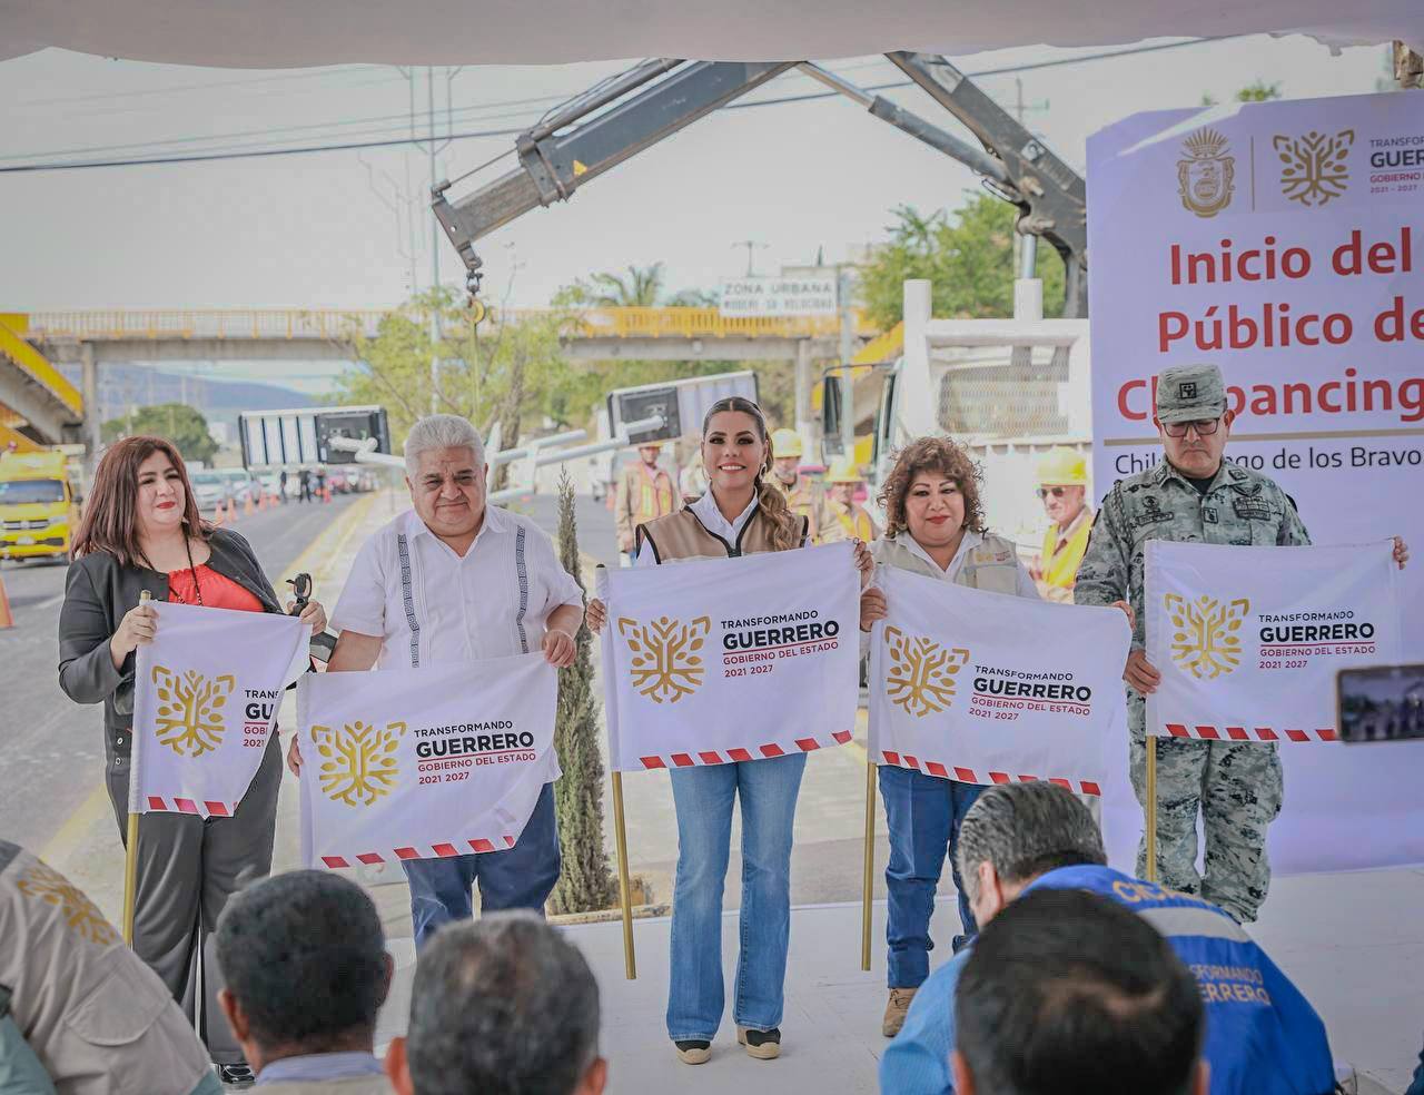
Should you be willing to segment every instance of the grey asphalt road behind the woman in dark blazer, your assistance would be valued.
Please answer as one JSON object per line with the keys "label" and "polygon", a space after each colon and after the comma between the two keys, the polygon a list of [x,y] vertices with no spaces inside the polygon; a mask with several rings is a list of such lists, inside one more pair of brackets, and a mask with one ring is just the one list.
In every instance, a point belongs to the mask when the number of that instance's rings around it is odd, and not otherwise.
{"label": "grey asphalt road behind the woman in dark blazer", "polygon": [[[236,530],[251,543],[273,584],[356,496],[328,504],[246,514]],[[0,839],[40,850],[104,773],[104,715],[60,691],[58,621],[67,567],[58,562],[0,565],[16,627],[0,631]],[[279,588],[279,592],[282,590]],[[336,590],[319,590],[330,607]]]}

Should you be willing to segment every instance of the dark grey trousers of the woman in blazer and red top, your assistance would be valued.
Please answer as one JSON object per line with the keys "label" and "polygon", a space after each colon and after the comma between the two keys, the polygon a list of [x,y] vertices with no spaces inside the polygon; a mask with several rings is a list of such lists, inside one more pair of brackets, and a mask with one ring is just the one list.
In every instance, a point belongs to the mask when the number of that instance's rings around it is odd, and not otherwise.
{"label": "dark grey trousers of the woman in blazer and red top", "polygon": [[[128,758],[108,758],[105,783],[124,840]],[[232,817],[145,813],[138,820],[134,953],[168,985],[212,1061],[221,1065],[238,1065],[244,1058],[218,1007],[222,975],[212,936],[228,898],[272,870],[281,785],[282,745],[273,733]]]}

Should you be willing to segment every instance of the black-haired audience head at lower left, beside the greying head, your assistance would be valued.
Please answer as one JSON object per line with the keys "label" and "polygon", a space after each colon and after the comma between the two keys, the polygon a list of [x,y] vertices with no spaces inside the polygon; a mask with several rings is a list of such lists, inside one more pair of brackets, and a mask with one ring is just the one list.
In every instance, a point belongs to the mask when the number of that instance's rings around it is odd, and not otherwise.
{"label": "black-haired audience head at lower left, beside the greying head", "polygon": [[336,874],[255,883],[218,920],[218,995],[248,1064],[372,1051],[393,964],[376,906]]}

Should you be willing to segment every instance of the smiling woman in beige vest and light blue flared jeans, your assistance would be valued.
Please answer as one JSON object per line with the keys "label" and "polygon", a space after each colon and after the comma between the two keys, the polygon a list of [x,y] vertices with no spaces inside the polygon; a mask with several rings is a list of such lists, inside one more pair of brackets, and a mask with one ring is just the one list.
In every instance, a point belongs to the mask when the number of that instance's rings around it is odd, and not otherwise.
{"label": "smiling woman in beige vest and light blue flared jeans", "polygon": [[[638,527],[638,567],[689,558],[735,558],[787,551],[806,541],[807,523],[769,478],[772,453],[762,410],[723,399],[702,421],[708,491],[674,514]],[[870,552],[857,544],[869,577]],[[588,602],[601,629],[607,608]],[[706,1061],[722,1022],[722,890],[732,840],[732,803],[742,803],[742,948],[732,1018],[738,1042],[755,1058],[780,1054],[782,987],[790,940],[792,822],[806,755],[676,767],[678,876],[672,901],[668,1037],[689,1065]]]}

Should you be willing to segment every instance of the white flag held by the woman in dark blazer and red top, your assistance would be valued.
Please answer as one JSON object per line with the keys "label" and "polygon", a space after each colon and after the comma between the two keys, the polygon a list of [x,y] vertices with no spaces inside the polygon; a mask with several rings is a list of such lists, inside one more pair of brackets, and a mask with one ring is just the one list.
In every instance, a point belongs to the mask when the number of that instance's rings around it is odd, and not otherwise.
{"label": "white flag held by the woman in dark blazer and red top", "polygon": [[308,666],[296,617],[154,601],[134,666],[130,813],[231,817],[262,763],[285,689]]}

